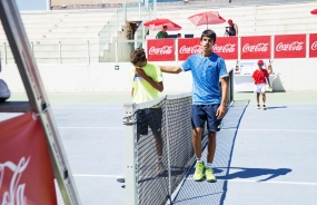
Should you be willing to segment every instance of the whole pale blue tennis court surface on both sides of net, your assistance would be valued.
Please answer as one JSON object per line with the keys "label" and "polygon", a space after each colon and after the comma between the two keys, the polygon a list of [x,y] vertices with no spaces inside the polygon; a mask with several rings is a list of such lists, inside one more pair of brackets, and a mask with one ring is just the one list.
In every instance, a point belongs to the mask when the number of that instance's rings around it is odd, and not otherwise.
{"label": "whole pale blue tennis court surface on both sides of net", "polygon": [[[125,167],[122,115],[129,94],[49,98],[82,204],[123,205],[125,186],[116,177]],[[174,204],[317,204],[317,92],[267,94],[266,111],[256,109],[254,98],[235,94],[224,119],[214,162],[218,182],[196,183],[191,168]]]}

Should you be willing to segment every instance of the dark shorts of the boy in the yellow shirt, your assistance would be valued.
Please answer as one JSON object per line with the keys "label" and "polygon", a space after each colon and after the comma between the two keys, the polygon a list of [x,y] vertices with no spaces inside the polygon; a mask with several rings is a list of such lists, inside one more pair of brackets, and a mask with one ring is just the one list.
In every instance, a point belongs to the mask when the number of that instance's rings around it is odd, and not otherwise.
{"label": "dark shorts of the boy in the yellow shirt", "polygon": [[148,135],[148,127],[153,134],[161,133],[161,108],[147,108],[137,110],[137,134]]}

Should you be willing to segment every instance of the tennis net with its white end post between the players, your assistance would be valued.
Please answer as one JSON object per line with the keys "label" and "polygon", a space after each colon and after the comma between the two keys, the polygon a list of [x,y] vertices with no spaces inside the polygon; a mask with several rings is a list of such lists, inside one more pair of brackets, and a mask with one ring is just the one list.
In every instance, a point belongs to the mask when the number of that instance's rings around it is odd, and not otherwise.
{"label": "tennis net with its white end post between the players", "polygon": [[[229,106],[232,71],[228,85]],[[172,204],[171,194],[195,163],[190,109],[191,94],[125,105],[126,204]],[[206,135],[205,126],[202,147]]]}

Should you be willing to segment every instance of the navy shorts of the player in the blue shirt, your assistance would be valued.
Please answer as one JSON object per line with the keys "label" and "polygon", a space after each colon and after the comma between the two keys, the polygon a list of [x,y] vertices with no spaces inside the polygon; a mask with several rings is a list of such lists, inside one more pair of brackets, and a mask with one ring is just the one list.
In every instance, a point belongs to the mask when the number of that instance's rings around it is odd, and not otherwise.
{"label": "navy shorts of the player in the blue shirt", "polygon": [[207,121],[209,131],[219,131],[221,119],[217,119],[216,113],[220,104],[215,105],[191,105],[191,126],[192,128],[204,128]]}

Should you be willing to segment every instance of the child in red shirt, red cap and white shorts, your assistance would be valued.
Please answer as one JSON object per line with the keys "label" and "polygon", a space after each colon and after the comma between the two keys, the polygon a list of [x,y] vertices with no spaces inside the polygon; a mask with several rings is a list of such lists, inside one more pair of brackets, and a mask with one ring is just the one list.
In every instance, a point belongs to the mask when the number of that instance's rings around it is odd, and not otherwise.
{"label": "child in red shirt, red cap and white shorts", "polygon": [[262,95],[262,102],[264,102],[264,109],[267,109],[265,102],[266,102],[266,85],[269,84],[269,74],[266,69],[262,68],[264,66],[264,61],[262,60],[258,60],[258,69],[255,70],[255,72],[252,74],[252,78],[255,80],[255,92],[257,94],[257,109],[260,109],[260,102],[259,102],[259,98],[260,98],[260,94]]}

